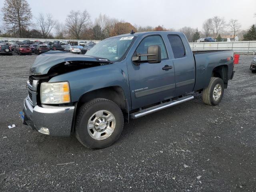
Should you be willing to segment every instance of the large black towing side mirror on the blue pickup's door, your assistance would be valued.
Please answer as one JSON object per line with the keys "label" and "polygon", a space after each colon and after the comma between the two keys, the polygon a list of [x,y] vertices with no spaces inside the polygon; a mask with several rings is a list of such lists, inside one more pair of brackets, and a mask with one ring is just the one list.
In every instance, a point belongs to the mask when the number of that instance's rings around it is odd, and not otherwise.
{"label": "large black towing side mirror on the blue pickup's door", "polygon": [[[140,60],[140,57],[147,56],[147,60]],[[132,61],[136,62],[136,65],[140,65],[140,62],[148,63],[160,63],[161,62],[161,48],[158,45],[150,45],[148,47],[147,54],[136,54],[132,57]]]}

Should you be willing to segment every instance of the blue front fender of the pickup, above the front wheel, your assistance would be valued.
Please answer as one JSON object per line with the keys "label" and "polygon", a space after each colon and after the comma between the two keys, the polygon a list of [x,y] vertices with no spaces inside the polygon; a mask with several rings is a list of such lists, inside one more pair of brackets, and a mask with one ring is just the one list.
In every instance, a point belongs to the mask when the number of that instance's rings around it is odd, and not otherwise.
{"label": "blue front fender of the pickup, above the front wheel", "polygon": [[87,92],[110,86],[120,86],[124,91],[125,99],[128,101],[129,106],[131,106],[130,87],[125,61],[76,70],[54,76],[49,80],[49,82],[62,81],[69,82],[72,102],[77,102]]}

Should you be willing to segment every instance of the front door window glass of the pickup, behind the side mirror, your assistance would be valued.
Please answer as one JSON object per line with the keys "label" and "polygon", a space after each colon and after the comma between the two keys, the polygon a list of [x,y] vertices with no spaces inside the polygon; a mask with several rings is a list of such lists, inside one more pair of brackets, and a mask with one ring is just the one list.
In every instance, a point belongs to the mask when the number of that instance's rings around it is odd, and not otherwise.
{"label": "front door window glass of the pickup, behind the side mirror", "polygon": [[[136,53],[147,54],[150,45],[159,45],[161,48],[161,59],[167,58],[167,52],[162,38],[159,35],[148,36],[144,38],[136,49]],[[146,56],[142,56],[141,60],[147,60]]]}

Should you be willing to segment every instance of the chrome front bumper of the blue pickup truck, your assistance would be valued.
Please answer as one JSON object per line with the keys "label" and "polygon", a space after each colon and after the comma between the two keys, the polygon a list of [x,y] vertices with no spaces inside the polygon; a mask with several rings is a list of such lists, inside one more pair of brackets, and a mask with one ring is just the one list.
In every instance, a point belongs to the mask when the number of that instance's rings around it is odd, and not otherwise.
{"label": "chrome front bumper of the blue pickup truck", "polygon": [[32,106],[27,97],[24,100],[23,124],[43,134],[69,136],[72,128],[74,106]]}

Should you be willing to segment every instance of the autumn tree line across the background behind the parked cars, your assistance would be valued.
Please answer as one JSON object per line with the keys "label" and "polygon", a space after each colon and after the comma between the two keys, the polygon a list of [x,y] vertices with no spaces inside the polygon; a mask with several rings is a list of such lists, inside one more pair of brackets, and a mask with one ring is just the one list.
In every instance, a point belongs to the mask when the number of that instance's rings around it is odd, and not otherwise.
{"label": "autumn tree line across the background behind the parked cars", "polygon": [[[14,38],[56,38],[56,39],[93,39],[102,40],[110,36],[142,31],[180,31],[189,42],[195,42],[200,37],[212,36],[221,40],[221,34],[232,33],[233,38],[239,34],[243,40],[256,40],[255,26],[250,30],[240,30],[241,24],[236,19],[226,22],[224,18],[214,16],[202,24],[202,31],[198,28],[183,27],[178,30],[164,26],[138,26],[124,20],[110,18],[100,14],[94,21],[90,14],[84,10],[71,10],[65,22],[58,22],[52,14],[39,13],[32,22],[32,12],[27,0],[4,0],[1,9],[3,26],[0,28],[2,37]],[[254,14],[256,17],[256,14]],[[55,31],[55,33],[54,33]]]}

